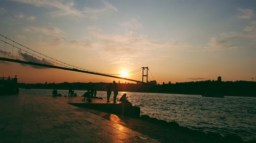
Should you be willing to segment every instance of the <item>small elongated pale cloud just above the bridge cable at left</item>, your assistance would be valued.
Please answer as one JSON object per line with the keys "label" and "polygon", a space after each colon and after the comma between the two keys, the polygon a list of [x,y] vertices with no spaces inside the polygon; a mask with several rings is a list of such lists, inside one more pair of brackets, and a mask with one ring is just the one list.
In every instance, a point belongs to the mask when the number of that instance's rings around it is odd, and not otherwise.
{"label": "small elongated pale cloud just above the bridge cable at left", "polygon": [[28,26],[24,28],[25,32],[30,32],[30,33],[41,33],[45,35],[50,35],[50,36],[59,36],[61,34],[64,34],[60,28],[53,27],[53,26],[47,26],[47,27],[34,27],[34,26]]}

